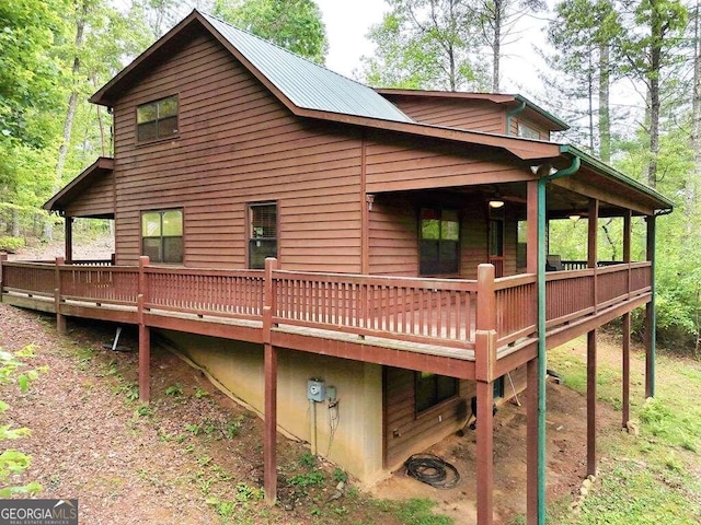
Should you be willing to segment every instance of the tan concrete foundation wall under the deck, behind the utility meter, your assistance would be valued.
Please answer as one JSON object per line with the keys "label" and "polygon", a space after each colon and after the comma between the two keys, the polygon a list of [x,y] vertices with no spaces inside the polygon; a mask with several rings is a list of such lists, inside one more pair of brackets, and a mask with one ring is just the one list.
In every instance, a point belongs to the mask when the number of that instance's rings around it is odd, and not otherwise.
{"label": "tan concrete foundation wall under the deck, behind the utility meter", "polygon": [[[264,407],[263,347],[176,331],[163,335],[231,394],[258,413]],[[307,398],[307,381],[335,386],[337,406]],[[315,425],[312,425],[315,412]],[[382,369],[377,364],[280,349],[277,422],[289,434],[312,443],[363,483],[382,476]],[[263,439],[263,436],[261,436]]]}

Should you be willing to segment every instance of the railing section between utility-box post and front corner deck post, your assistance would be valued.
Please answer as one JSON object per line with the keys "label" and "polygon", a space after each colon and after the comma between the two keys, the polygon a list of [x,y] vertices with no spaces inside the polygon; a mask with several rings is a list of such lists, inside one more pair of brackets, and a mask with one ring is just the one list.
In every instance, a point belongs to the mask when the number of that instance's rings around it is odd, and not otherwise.
{"label": "railing section between utility-box post and front corner deck post", "polygon": [[273,323],[473,348],[476,281],[273,272]]}

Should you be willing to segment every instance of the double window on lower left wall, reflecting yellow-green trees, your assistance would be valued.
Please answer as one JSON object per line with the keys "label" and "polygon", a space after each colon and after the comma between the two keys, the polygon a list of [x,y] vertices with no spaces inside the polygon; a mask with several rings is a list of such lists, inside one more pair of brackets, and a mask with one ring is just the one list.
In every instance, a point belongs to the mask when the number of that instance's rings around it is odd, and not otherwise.
{"label": "double window on lower left wall, reflecting yellow-green trees", "polygon": [[183,211],[146,211],[141,214],[141,255],[153,262],[183,261]]}

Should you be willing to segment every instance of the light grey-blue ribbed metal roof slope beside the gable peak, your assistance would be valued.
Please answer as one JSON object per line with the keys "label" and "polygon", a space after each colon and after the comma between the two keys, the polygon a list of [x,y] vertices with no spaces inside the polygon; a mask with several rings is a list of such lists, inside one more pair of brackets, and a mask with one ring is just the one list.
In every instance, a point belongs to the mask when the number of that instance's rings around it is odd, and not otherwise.
{"label": "light grey-blue ribbed metal roof slope beside the gable peak", "polygon": [[200,14],[296,106],[399,122],[414,121],[367,85],[211,15]]}

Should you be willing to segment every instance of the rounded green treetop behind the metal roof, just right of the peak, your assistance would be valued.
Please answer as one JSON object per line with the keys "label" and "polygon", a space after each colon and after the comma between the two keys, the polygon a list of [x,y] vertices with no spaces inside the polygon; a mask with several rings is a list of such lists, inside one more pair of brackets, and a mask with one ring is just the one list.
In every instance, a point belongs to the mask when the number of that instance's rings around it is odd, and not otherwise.
{"label": "rounded green treetop behind the metal roof, just right of the peak", "polygon": [[325,60],[326,28],[312,0],[215,0],[212,13],[317,63]]}

